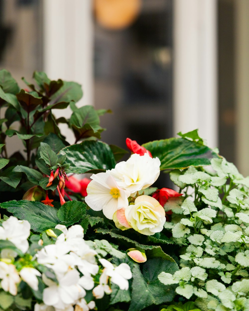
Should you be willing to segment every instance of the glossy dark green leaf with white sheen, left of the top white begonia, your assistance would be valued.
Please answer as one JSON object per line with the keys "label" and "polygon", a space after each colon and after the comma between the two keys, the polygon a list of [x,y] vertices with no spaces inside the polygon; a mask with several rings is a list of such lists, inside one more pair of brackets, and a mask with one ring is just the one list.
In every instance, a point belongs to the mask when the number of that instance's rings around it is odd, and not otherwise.
{"label": "glossy dark green leaf with white sheen, left of the top white begonia", "polygon": [[63,148],[60,154],[67,155],[69,170],[75,174],[105,172],[115,167],[113,153],[104,142],[84,141]]}

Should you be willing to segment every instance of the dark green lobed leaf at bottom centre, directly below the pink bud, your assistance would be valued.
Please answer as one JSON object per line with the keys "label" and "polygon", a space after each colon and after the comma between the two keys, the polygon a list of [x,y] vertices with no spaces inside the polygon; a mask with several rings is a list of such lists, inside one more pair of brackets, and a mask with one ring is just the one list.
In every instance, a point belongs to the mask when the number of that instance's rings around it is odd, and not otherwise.
{"label": "dark green lobed leaf at bottom centre, directly below the pink bud", "polygon": [[172,285],[164,285],[157,279],[162,271],[176,272],[178,266],[175,262],[153,258],[143,265],[141,273],[139,265],[134,264],[132,269],[132,293],[129,311],[140,311],[153,304],[162,304],[172,301],[175,296],[175,288]]}

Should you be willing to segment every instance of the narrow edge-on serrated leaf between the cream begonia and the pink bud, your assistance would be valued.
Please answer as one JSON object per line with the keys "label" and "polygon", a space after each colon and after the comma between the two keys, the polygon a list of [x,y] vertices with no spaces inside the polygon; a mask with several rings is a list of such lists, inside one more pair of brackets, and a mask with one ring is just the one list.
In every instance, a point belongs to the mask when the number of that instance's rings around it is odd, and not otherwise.
{"label": "narrow edge-on serrated leaf between the cream begonia and the pink bud", "polygon": [[127,248],[130,247],[136,247],[140,249],[144,249],[146,251],[147,258],[154,258],[154,257],[160,257],[162,259],[166,259],[171,262],[175,262],[175,260],[163,252],[161,246],[159,245],[143,245],[138,243],[137,241],[131,240],[127,238],[124,235],[117,234],[115,230],[107,230],[107,229],[96,229],[96,233],[102,233],[102,234],[110,234],[112,238],[120,240],[120,243],[123,243],[127,246]]}

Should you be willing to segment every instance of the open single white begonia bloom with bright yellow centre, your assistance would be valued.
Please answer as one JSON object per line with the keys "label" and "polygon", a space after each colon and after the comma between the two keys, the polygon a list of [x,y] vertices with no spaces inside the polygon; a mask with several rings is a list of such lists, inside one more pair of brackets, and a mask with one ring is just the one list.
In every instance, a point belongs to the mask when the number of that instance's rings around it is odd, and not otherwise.
{"label": "open single white begonia bloom with bright yellow centre", "polygon": [[93,174],[91,178],[85,202],[94,211],[103,210],[106,218],[112,219],[115,211],[128,206],[130,192],[121,189],[110,174]]}

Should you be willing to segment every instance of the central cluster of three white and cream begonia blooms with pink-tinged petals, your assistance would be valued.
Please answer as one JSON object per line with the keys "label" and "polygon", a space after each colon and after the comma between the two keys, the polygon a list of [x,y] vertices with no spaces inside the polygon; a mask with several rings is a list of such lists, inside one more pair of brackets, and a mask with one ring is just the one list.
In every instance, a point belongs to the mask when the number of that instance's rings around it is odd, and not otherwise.
{"label": "central cluster of three white and cream begonia blooms with pink-tinged petals", "polygon": [[94,211],[115,221],[115,225],[152,235],[162,231],[165,211],[158,201],[143,195],[130,204],[128,198],[151,186],[160,174],[160,160],[147,153],[133,154],[127,161],[118,163],[106,173],[93,174],[87,186],[86,203]]}

